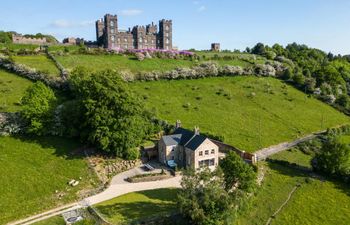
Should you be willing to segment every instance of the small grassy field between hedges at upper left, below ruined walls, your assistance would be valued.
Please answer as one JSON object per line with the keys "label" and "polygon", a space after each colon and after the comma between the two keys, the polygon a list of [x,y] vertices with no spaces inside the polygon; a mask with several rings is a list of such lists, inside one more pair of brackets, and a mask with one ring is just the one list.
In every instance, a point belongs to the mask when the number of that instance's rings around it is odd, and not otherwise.
{"label": "small grassy field between hedges at upper left, below ruined walls", "polygon": [[29,68],[36,69],[51,77],[60,76],[60,71],[46,55],[13,56],[12,58],[18,64],[26,65]]}

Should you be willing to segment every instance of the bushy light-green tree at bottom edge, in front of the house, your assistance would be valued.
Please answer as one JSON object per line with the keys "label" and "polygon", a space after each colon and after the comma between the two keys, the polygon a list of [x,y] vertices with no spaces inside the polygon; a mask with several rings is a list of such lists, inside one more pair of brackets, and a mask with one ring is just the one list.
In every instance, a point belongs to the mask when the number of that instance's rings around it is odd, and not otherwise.
{"label": "bushy light-green tree at bottom edge, in front of the house", "polygon": [[180,212],[193,224],[226,224],[235,206],[235,198],[225,190],[220,170],[185,171],[178,194]]}

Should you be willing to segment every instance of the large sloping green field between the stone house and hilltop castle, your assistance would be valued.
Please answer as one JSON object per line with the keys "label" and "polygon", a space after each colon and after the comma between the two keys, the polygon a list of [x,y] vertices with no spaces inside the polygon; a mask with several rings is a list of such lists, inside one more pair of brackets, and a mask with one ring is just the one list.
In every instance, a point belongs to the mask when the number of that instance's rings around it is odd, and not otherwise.
{"label": "large sloping green field between the stone house and hilltop castle", "polygon": [[163,80],[130,86],[161,119],[172,124],[180,119],[188,129],[199,126],[249,152],[349,122],[334,108],[274,78]]}

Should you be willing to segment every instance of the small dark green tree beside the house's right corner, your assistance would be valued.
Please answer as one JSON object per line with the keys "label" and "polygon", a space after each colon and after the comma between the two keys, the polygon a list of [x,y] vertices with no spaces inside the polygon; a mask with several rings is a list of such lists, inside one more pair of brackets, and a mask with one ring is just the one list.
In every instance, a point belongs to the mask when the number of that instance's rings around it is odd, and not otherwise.
{"label": "small dark green tree beside the house's right corner", "polygon": [[256,173],[253,167],[244,162],[235,152],[230,151],[220,162],[224,172],[225,188],[233,188],[251,192],[256,187]]}

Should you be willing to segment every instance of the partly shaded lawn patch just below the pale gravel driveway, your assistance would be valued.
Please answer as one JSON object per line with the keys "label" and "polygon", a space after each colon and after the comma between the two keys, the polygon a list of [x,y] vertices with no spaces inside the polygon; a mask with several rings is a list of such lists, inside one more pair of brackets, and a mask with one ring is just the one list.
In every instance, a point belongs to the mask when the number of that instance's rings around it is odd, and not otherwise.
{"label": "partly shaded lawn patch just below the pale gravel driveway", "polygon": [[133,192],[95,207],[109,222],[119,224],[176,211],[176,195],[176,189]]}

